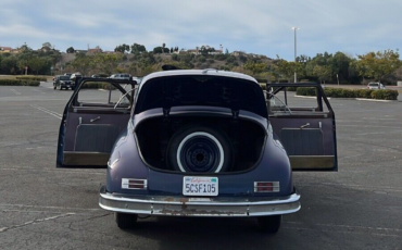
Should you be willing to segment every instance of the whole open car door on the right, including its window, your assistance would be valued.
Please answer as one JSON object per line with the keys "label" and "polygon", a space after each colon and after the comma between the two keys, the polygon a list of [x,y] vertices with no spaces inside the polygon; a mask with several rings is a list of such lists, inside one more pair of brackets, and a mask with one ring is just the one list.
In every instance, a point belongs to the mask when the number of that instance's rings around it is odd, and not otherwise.
{"label": "whole open car door on the right, including its window", "polygon": [[[311,96],[298,96],[299,92]],[[267,110],[293,171],[338,171],[335,114],[319,84],[271,84]]]}

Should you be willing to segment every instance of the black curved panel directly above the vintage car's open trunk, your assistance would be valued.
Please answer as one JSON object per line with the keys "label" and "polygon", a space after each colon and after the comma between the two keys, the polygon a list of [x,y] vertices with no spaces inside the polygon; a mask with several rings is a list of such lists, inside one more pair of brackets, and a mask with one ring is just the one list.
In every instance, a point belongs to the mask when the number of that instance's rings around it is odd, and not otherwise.
{"label": "black curved panel directly above the vintage car's open trunk", "polygon": [[266,117],[263,91],[254,82],[211,76],[172,76],[147,82],[139,92],[135,113],[183,105],[246,110]]}

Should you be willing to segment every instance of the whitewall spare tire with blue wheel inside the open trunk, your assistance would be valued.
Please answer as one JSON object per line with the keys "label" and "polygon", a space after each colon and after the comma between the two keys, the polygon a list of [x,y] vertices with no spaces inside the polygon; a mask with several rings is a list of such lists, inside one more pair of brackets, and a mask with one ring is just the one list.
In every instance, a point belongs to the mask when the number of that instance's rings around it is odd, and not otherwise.
{"label": "whitewall spare tire with blue wheel inside the open trunk", "polygon": [[233,151],[225,133],[209,125],[192,124],[172,136],[166,159],[174,171],[219,173],[230,170]]}

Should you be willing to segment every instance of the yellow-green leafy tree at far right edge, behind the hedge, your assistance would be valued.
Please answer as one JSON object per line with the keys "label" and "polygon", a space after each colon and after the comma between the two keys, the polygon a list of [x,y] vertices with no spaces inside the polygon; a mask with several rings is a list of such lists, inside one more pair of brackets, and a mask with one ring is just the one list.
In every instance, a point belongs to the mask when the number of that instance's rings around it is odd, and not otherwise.
{"label": "yellow-green leafy tree at far right edge, behind the hedge", "polygon": [[357,55],[357,71],[361,76],[381,80],[384,76],[393,73],[402,64],[399,60],[399,52],[393,50],[385,50],[378,52],[369,52],[363,55]]}

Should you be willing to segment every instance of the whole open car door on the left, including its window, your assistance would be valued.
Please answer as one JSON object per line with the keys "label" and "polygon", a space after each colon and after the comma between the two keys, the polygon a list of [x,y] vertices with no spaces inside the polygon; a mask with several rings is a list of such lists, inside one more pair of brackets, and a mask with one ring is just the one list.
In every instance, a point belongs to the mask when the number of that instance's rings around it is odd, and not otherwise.
{"label": "whole open car door on the left, including its window", "polygon": [[81,78],[59,130],[56,167],[105,167],[127,127],[136,82]]}

